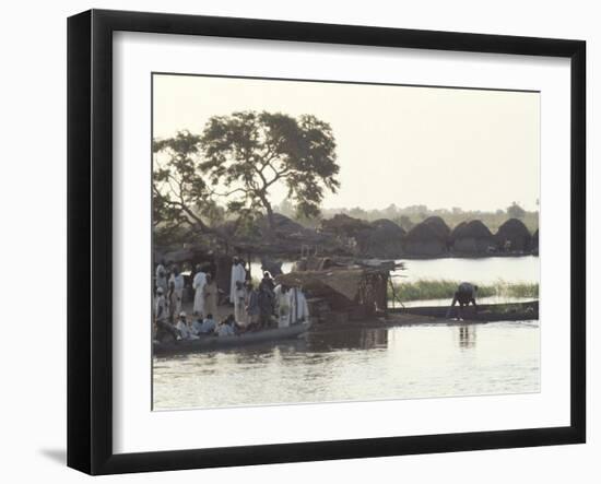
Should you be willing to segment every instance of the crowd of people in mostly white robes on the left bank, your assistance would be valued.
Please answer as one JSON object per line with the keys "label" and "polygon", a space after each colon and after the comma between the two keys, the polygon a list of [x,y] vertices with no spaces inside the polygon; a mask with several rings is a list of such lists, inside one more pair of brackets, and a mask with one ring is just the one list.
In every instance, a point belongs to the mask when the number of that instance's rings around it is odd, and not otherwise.
{"label": "crowd of people in mostly white robes on the left bank", "polygon": [[232,263],[229,303],[234,312],[216,322],[219,288],[212,274],[196,267],[192,279],[195,292],[192,319],[181,310],[185,280],[176,264],[167,271],[164,262],[155,274],[155,329],[158,340],[195,340],[203,334],[225,337],[267,328],[284,328],[307,321],[309,310],[299,287],[275,284],[269,272],[256,286],[247,275],[244,260],[235,257]]}

